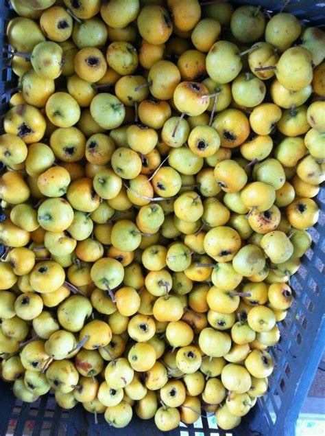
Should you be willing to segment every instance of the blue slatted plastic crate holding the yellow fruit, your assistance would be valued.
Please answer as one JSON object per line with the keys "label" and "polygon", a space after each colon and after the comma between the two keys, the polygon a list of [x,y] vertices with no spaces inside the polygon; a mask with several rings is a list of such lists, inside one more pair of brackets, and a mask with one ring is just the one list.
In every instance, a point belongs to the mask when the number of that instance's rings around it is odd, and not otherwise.
{"label": "blue slatted plastic crate holding the yellow fruit", "polygon": [[[234,4],[262,5],[269,11],[278,11],[284,0],[232,0]],[[289,1],[286,12],[295,14],[307,25],[325,25],[325,3],[316,0]],[[14,13],[7,0],[0,0],[0,43],[6,47],[5,29]],[[0,59],[1,82],[0,113],[8,108],[10,89],[15,86],[8,56]],[[285,321],[279,323],[281,339],[271,348],[276,370],[269,378],[269,391],[258,398],[256,406],[243,418],[241,425],[232,431],[217,428],[214,417],[202,417],[193,426],[181,424],[169,432],[177,436],[294,436],[298,415],[315,376],[324,349],[325,317],[324,253],[325,253],[325,190],[320,190],[317,201],[323,209],[320,219],[310,230],[313,244],[302,258],[298,273],[291,279],[295,302]],[[8,383],[0,380],[0,436],[5,435],[161,435],[154,422],[134,416],[132,423],[121,430],[110,428],[99,416],[86,413],[80,404],[66,411],[55,402],[53,395],[45,395],[33,404],[17,400]],[[320,436],[320,435],[315,435]]]}

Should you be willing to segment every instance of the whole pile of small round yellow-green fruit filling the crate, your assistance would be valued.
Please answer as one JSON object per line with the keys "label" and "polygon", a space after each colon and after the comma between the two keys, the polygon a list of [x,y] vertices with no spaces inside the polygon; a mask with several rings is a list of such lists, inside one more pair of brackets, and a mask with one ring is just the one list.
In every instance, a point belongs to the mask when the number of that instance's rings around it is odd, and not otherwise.
{"label": "whole pile of small round yellow-green fruit filling the crate", "polygon": [[324,181],[325,34],[197,0],[11,0],[1,377],[108,424],[267,391]]}

